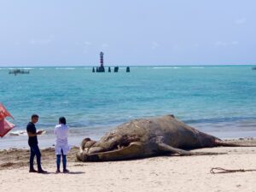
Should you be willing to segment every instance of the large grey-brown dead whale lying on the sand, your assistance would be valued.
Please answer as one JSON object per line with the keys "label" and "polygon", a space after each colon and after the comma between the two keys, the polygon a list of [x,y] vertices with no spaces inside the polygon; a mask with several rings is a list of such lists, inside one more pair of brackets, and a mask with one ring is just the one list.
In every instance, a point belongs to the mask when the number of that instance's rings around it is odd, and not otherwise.
{"label": "large grey-brown dead whale lying on the sand", "polygon": [[241,145],[225,143],[218,137],[184,124],[170,114],[158,118],[131,120],[119,125],[98,142],[85,138],[77,153],[77,159],[105,161],[129,160],[163,154],[219,154],[189,151],[189,149],[217,146],[239,147]]}

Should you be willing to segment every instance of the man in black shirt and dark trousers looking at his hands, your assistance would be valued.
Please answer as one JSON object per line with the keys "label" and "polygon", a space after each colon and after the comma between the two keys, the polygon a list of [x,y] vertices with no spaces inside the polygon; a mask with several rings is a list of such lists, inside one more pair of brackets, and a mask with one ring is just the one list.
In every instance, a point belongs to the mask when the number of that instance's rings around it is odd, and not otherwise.
{"label": "man in black shirt and dark trousers looking at his hands", "polygon": [[[30,160],[29,160],[29,172],[45,173],[41,167],[41,153],[38,148],[38,135],[41,135],[43,131],[37,131],[35,124],[38,122],[38,114],[32,114],[31,122],[26,125],[26,132],[28,135],[28,145],[30,147]],[[38,171],[34,169],[34,157],[37,156]]]}

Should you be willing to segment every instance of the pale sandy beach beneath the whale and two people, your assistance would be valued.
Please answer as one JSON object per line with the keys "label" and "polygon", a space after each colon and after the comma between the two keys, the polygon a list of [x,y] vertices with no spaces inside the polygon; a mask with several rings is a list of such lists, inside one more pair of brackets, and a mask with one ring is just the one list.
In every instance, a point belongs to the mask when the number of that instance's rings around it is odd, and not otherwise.
{"label": "pale sandy beach beneath the whale and two people", "polygon": [[[234,142],[234,141],[231,141]],[[236,143],[256,143],[238,139]],[[28,172],[27,149],[0,151],[1,191],[256,191],[256,172],[212,174],[212,167],[256,169],[256,147],[203,148],[227,154],[158,156],[141,160],[78,162],[73,148],[67,156],[69,173],[55,173],[53,148],[44,148],[42,166],[48,174]]]}

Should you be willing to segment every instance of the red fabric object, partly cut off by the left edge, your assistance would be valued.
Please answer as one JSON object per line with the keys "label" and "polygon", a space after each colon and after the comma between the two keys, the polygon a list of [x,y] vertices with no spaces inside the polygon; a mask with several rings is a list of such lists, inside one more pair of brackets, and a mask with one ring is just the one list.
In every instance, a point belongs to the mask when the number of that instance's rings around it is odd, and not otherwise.
{"label": "red fabric object, partly cut off by the left edge", "polygon": [[0,103],[0,137],[5,136],[15,127],[14,124],[5,119],[6,117],[11,117],[12,119],[14,119],[9,111],[3,107],[3,104]]}

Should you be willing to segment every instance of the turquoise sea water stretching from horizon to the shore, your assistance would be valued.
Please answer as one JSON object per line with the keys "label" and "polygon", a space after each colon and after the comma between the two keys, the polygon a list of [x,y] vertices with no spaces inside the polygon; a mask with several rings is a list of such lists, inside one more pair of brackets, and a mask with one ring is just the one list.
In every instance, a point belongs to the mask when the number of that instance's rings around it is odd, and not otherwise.
{"label": "turquoise sea water stretching from horizon to the shore", "polygon": [[[252,66],[125,67],[119,73],[91,73],[92,67],[25,67],[9,74],[0,67],[0,102],[24,131],[32,113],[44,146],[53,128],[67,118],[70,141],[99,139],[130,119],[174,114],[218,137],[256,137],[256,71]],[[113,71],[113,68],[112,68]],[[47,141],[47,142],[44,142]],[[26,146],[26,137],[0,138],[0,148]]]}

